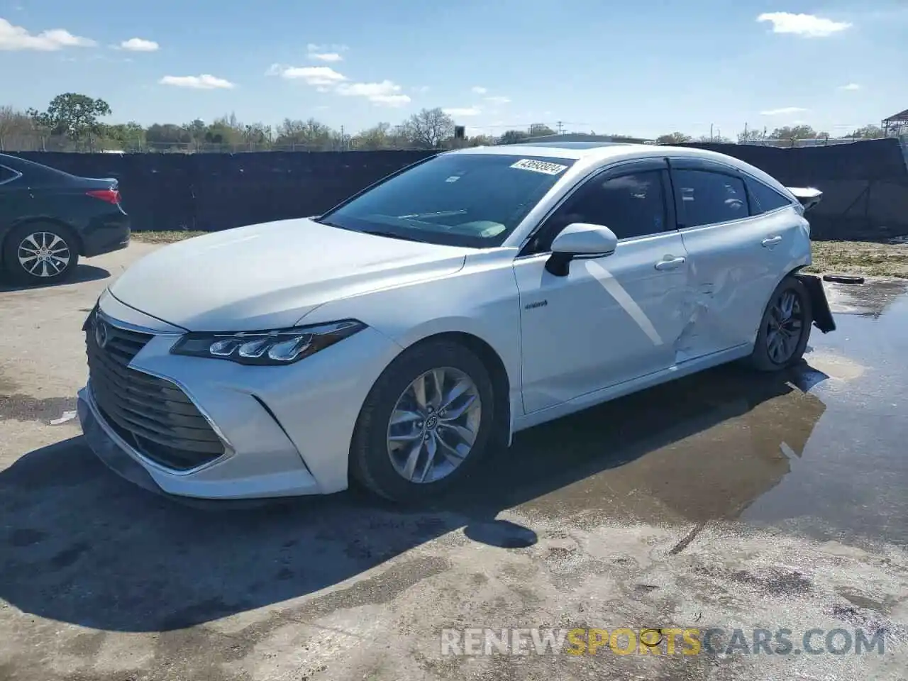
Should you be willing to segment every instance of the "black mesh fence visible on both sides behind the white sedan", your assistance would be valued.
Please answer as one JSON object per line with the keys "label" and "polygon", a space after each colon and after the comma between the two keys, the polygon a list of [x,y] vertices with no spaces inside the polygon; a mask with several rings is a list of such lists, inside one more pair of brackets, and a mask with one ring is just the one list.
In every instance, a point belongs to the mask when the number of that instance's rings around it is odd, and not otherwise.
{"label": "black mesh fence visible on both sides behind the white sedan", "polygon": [[[692,144],[752,163],[788,186],[813,186],[814,238],[908,234],[908,166],[895,139],[779,149]],[[120,181],[133,228],[215,231],[315,215],[435,152],[21,153],[88,177]]]}

